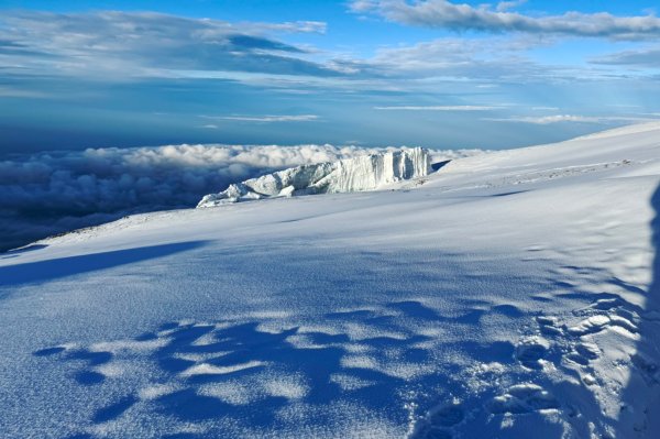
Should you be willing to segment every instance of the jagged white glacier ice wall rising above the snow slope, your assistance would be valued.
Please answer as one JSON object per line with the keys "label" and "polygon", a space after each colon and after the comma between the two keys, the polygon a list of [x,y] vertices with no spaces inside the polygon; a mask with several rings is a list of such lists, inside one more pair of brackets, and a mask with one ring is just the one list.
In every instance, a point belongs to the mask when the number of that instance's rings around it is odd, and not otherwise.
{"label": "jagged white glacier ice wall rising above the snow slope", "polygon": [[232,184],[205,196],[197,207],[268,197],[373,190],[431,173],[431,157],[421,147],[363,155],[332,163],[302,165]]}

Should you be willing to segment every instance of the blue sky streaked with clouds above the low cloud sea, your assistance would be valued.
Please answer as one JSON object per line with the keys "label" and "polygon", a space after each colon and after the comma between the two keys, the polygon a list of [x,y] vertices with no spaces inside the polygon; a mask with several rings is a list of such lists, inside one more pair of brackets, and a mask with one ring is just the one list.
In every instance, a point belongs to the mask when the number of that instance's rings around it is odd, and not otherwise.
{"label": "blue sky streaked with clouds above the low cloud sea", "polygon": [[0,155],[499,149],[660,118],[653,1],[0,1]]}

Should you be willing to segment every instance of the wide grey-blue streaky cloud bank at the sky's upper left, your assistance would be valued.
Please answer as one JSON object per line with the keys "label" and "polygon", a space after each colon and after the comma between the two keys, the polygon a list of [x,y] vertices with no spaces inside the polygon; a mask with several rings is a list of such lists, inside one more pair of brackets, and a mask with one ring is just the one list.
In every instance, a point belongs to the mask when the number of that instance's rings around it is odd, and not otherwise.
{"label": "wide grey-blue streaky cloud bank at the sky's upper left", "polygon": [[0,17],[0,65],[16,75],[121,80],[185,72],[340,75],[307,47],[272,33],[324,32],[321,22],[229,23],[155,12],[8,12]]}

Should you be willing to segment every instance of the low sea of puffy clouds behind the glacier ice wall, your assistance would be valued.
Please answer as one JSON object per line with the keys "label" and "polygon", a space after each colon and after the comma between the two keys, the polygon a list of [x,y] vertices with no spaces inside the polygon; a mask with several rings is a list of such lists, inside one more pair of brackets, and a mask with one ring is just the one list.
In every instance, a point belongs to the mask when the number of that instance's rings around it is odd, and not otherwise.
{"label": "low sea of puffy clouds behind the glacier ice wall", "polygon": [[[273,171],[391,150],[184,144],[13,156],[0,161],[0,251],[130,213],[195,207]],[[432,151],[437,161],[479,153]]]}

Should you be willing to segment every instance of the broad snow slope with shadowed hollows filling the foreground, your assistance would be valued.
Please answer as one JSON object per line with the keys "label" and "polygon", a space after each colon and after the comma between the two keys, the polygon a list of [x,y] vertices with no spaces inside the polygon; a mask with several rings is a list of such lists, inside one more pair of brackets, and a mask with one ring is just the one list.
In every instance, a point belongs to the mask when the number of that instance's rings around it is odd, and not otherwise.
{"label": "broad snow slope with shadowed hollows filling the foreground", "polygon": [[646,124],[1,255],[0,437],[658,437],[659,184]]}

